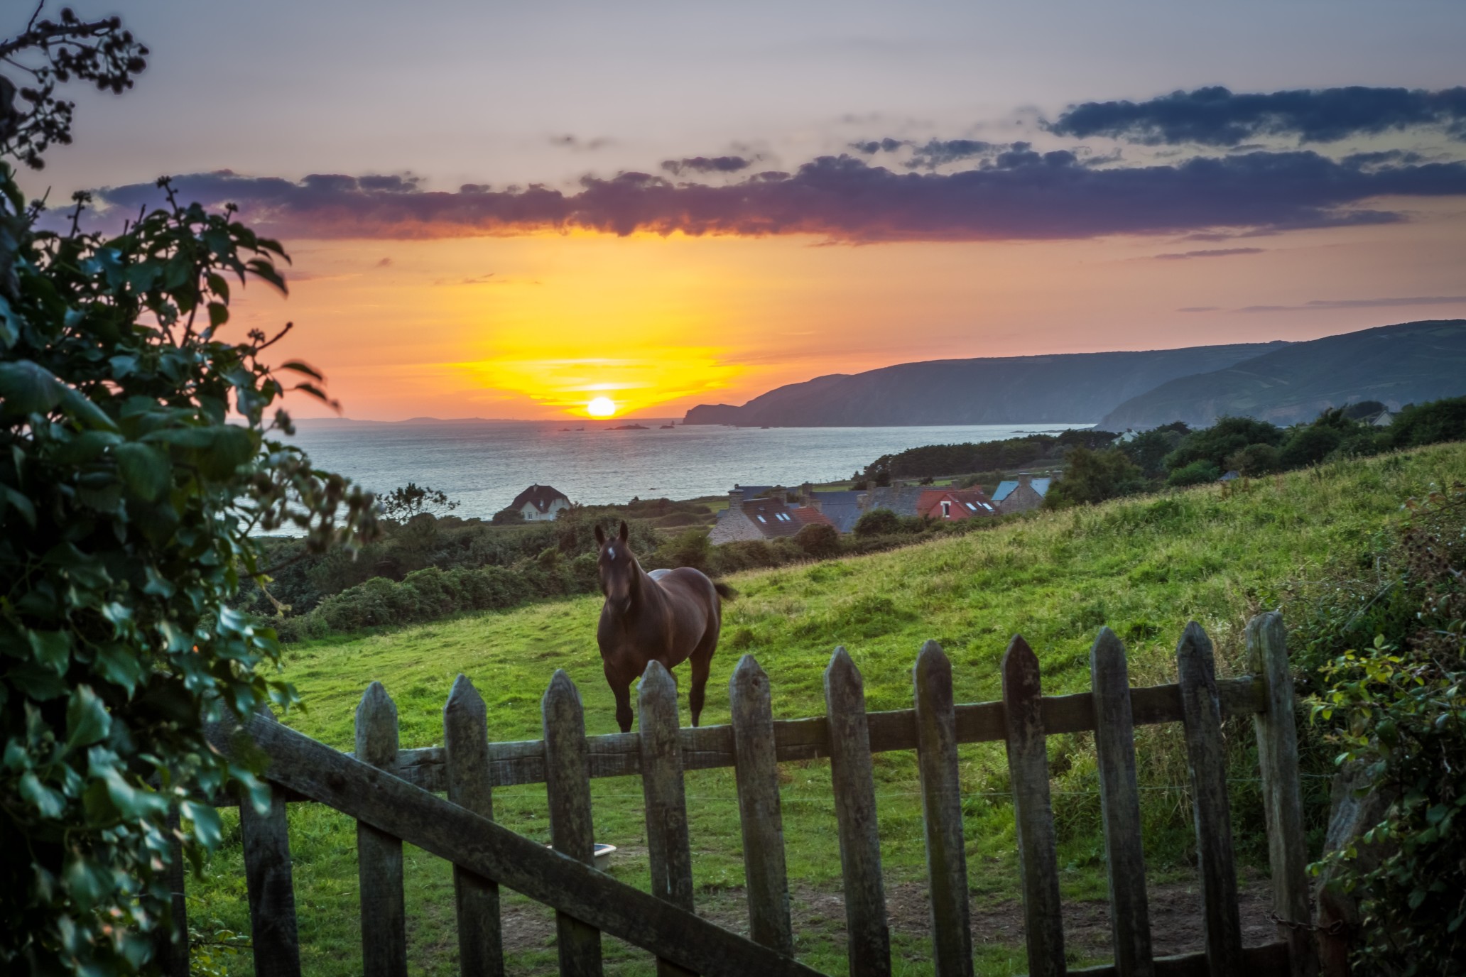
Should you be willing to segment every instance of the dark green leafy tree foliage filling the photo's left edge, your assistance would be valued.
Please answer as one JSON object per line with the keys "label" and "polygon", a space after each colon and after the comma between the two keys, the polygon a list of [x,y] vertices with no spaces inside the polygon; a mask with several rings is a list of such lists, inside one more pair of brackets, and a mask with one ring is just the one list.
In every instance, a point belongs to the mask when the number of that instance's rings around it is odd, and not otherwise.
{"label": "dark green leafy tree foliage filling the photo's left edge", "polygon": [[[22,51],[43,62],[28,113],[4,105],[4,148],[38,166],[69,141],[54,82],[122,91],[142,48],[116,21],[69,13],[28,37],[0,47],[12,66]],[[148,968],[172,842],[194,855],[218,844],[208,801],[229,782],[259,800],[204,724],[293,697],[258,668],[279,662],[274,633],[230,608],[242,580],[268,582],[251,533],[289,529],[320,551],[353,545],[374,520],[369,495],[274,439],[290,431],[283,374],[264,362],[280,337],[224,338],[235,287],[284,290],[280,245],[229,211],[169,201],[119,236],[81,233],[76,218],[67,234],[40,233],[0,161],[7,974]],[[281,369],[321,395],[309,366]]]}

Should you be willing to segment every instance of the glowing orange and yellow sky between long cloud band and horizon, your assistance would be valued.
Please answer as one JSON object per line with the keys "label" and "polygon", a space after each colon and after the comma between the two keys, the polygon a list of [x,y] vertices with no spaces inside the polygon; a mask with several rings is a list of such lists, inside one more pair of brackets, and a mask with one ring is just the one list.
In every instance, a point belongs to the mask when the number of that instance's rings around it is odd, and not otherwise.
{"label": "glowing orange and yellow sky between long cloud band and horizon", "polygon": [[[919,359],[1303,340],[1466,315],[1463,303],[1236,311],[1466,291],[1466,201],[1407,204],[1407,224],[1227,245],[588,231],[301,240],[289,299],[252,286],[236,316],[265,328],[293,319],[281,357],[320,366],[349,417],[583,416],[595,395],[622,416],[680,416]],[[1223,246],[1262,250],[1155,258]],[[1204,306],[1217,311],[1182,311]]]}

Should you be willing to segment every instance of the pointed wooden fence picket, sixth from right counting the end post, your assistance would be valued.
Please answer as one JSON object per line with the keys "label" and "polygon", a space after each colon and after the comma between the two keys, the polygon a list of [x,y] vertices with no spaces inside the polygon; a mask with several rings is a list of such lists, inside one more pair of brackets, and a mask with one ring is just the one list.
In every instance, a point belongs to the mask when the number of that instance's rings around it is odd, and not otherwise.
{"label": "pointed wooden fence picket, sixth from right counting the end post", "polygon": [[891,933],[885,921],[881,838],[875,820],[875,775],[865,716],[865,683],[843,647],[825,668],[830,724],[830,785],[840,829],[844,920],[850,977],[891,973]]}

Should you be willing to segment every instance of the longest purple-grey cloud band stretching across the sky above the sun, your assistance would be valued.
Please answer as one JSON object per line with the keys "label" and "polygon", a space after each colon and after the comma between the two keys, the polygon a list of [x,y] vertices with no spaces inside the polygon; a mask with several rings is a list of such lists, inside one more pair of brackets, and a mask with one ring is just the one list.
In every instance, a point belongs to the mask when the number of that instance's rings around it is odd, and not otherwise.
{"label": "longest purple-grey cloud band stretching across the sky above the sun", "polygon": [[[613,234],[815,234],[836,242],[1083,239],[1101,234],[1264,233],[1384,224],[1380,196],[1466,195],[1466,163],[1359,166],[1306,152],[1252,152],[1143,167],[1088,167],[1070,152],[1012,148],[959,173],[897,173],[841,155],[736,183],[671,183],[648,173],[472,193],[349,176],[301,182],[229,171],[176,177],[185,199],[235,202],[265,233],[295,237],[446,237],[586,229]],[[98,199],[135,214],[154,185]],[[60,220],[51,217],[50,220]]]}

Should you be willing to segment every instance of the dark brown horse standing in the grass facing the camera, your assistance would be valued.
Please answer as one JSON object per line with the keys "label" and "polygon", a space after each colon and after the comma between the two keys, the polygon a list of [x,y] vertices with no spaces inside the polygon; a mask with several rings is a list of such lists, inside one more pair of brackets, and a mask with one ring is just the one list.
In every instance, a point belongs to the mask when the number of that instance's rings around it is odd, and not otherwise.
{"label": "dark brown horse standing in the grass facing the camera", "polygon": [[616,693],[616,722],[622,732],[632,731],[630,687],[647,671],[647,662],[661,662],[671,671],[673,665],[690,658],[692,693],[688,699],[692,725],[698,725],[723,625],[723,598],[732,598],[733,590],[692,567],[647,573],[626,545],[626,523],[610,539],[595,527],[595,542],[601,546],[601,593],[605,595],[595,640],[601,646],[605,681]]}

